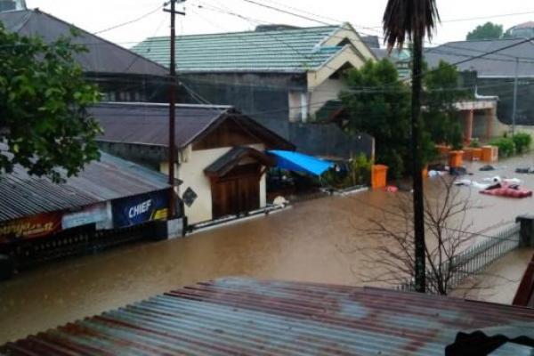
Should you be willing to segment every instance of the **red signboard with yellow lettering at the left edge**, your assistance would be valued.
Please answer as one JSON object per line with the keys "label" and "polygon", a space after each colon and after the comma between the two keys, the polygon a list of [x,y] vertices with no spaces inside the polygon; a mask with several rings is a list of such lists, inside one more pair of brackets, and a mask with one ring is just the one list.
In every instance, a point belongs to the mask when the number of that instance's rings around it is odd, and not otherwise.
{"label": "red signboard with yellow lettering at the left edge", "polygon": [[0,242],[36,239],[61,231],[61,213],[44,213],[0,223]]}

